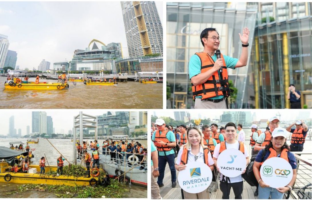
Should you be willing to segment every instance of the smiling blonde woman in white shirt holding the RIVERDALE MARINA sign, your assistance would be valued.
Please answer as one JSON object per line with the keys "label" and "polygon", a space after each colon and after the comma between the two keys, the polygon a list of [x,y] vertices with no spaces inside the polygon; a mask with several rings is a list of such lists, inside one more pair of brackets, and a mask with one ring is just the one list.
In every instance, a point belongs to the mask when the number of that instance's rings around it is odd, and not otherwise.
{"label": "smiling blonde woman in white shirt holding the RIVERDALE MARINA sign", "polygon": [[[213,170],[213,160],[209,149],[203,145],[203,135],[197,127],[189,128],[187,131],[187,143],[180,147],[175,168],[178,171],[186,169],[189,162],[206,163]],[[188,156],[185,156],[188,154]],[[187,157],[187,160],[185,159]],[[185,159],[185,160],[184,160]],[[209,199],[209,193],[204,190],[200,193],[188,193],[183,190],[184,199]]]}

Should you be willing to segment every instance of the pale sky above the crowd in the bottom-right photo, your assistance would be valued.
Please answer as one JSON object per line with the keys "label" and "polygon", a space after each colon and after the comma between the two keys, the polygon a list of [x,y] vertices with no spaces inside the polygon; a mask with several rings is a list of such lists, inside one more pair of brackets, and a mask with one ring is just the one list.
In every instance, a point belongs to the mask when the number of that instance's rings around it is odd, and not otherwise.
{"label": "pale sky above the crowd in the bottom-right photo", "polygon": [[[235,111],[235,110],[231,110],[231,111]],[[190,113],[192,119],[198,119],[199,113],[202,116],[201,119],[207,119],[207,118],[220,119],[220,116],[223,114],[223,111],[220,111],[220,110],[206,110],[205,112],[197,111],[197,110],[188,110],[188,112]],[[252,116],[255,110],[250,110],[250,112]],[[278,115],[278,112],[280,113],[280,120],[283,120],[283,121],[288,121],[288,120],[296,121],[296,120],[301,119],[299,116],[308,117],[311,119],[311,112],[309,110],[294,111],[294,110],[287,110],[287,109],[282,109],[282,110],[257,109],[256,120],[259,121],[261,119],[268,119],[270,117]],[[153,115],[156,114],[157,117],[165,116],[165,117],[171,117],[174,119],[173,111],[164,110],[164,111],[159,111],[159,112],[158,111],[152,112],[152,114]]]}

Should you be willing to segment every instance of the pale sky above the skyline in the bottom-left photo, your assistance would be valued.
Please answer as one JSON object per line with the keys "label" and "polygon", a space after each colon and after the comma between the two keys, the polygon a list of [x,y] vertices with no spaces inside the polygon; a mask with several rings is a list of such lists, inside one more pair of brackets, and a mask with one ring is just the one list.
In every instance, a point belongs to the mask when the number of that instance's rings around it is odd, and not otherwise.
{"label": "pale sky above the skyline in the bottom-left photo", "polygon": [[[64,129],[64,133],[67,134],[68,130],[72,130],[74,124],[74,116],[79,115],[82,111],[84,114],[99,116],[103,115],[103,110],[100,109],[89,109],[89,110],[32,110],[32,111],[45,111],[46,116],[51,116],[53,121],[53,127],[55,133],[61,133],[61,129]],[[1,110],[0,115],[0,135],[7,135],[9,133],[9,118],[14,116],[14,125],[18,134],[18,129],[22,129],[22,136],[27,134],[26,127],[30,126],[30,132],[32,132],[32,111],[21,109],[21,110]]]}

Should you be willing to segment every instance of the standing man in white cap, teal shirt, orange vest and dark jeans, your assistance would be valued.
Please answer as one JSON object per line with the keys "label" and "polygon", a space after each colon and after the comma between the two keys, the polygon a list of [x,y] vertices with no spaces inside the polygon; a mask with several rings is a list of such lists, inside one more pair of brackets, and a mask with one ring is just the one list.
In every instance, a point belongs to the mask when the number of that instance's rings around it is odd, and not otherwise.
{"label": "standing man in white cap, teal shirt, orange vest and dark jeans", "polygon": [[159,187],[163,187],[163,177],[165,175],[165,168],[168,162],[170,171],[171,171],[171,182],[172,187],[175,188],[177,183],[177,175],[176,169],[174,167],[174,150],[173,147],[176,146],[176,139],[174,133],[166,129],[166,124],[163,119],[157,119],[155,122],[157,129],[154,131],[152,140],[154,141],[155,146],[158,150],[158,170],[159,176],[157,180],[157,184]]}

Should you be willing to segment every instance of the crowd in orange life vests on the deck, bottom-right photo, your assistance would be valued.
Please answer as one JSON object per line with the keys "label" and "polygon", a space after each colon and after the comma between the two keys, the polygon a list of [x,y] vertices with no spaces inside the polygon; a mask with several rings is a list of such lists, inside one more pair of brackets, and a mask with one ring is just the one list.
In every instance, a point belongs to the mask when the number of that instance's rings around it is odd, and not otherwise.
{"label": "crowd in orange life vests on the deck, bottom-right photo", "polygon": [[[268,126],[265,130],[261,130],[256,124],[252,124],[249,145],[251,155],[255,155],[256,160],[253,165],[255,179],[259,183],[255,196],[259,199],[282,199],[284,193],[289,191],[296,179],[297,161],[291,151],[302,151],[305,143],[305,137],[308,132],[308,127],[303,120],[298,120],[288,126],[286,129],[279,127],[280,120],[278,117],[271,117],[268,120]],[[295,128],[292,128],[295,125]],[[291,135],[290,146],[287,145],[287,134]],[[246,136],[249,137],[249,136]],[[229,199],[231,188],[235,195],[235,199],[242,198],[243,178],[242,175],[237,177],[226,177],[220,173],[217,159],[220,153],[226,149],[239,149],[246,158],[246,166],[250,162],[249,149],[245,143],[245,132],[241,124],[229,122],[225,127],[220,127],[212,123],[201,126],[201,130],[196,127],[188,127],[180,125],[175,128],[171,125],[166,125],[165,121],[158,118],[155,123],[152,123],[152,171],[151,171],[151,193],[153,199],[160,199],[160,187],[164,186],[164,172],[168,163],[171,174],[171,187],[175,188],[176,171],[181,171],[186,168],[189,162],[204,162],[212,170],[212,183],[207,190],[201,193],[182,192],[183,199],[207,199],[209,192],[217,191],[220,187],[222,199]],[[264,155],[264,156],[262,156]],[[293,177],[290,183],[285,183],[285,187],[271,188],[263,182],[260,177],[260,167],[262,163],[271,157],[281,157],[287,160],[292,169]],[[246,171],[243,170],[244,174]],[[217,183],[219,175],[220,183]],[[156,181],[157,178],[157,181]]]}

